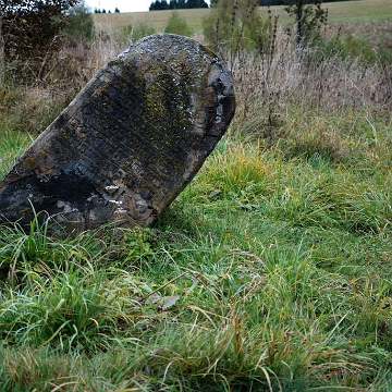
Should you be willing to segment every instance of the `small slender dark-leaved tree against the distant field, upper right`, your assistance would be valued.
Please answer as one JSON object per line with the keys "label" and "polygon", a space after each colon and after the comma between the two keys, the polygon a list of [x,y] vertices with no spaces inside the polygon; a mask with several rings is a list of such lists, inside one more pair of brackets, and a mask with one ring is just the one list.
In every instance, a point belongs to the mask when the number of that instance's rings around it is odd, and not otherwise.
{"label": "small slender dark-leaved tree against the distant field, upper right", "polygon": [[284,10],[295,16],[296,42],[310,38],[314,30],[327,22],[328,11],[321,9],[322,0],[286,0]]}

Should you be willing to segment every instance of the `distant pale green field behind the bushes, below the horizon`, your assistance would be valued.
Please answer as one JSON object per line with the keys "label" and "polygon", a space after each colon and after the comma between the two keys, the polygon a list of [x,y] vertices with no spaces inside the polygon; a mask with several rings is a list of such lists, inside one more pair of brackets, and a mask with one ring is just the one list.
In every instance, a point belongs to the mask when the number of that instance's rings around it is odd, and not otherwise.
{"label": "distant pale green field behind the bushes, below the horizon", "polygon": [[[328,8],[329,22],[350,22],[350,21],[371,21],[371,20],[392,20],[391,0],[357,0],[341,1],[323,4]],[[267,8],[261,7],[260,11],[267,15]],[[192,32],[197,33],[203,29],[203,17],[206,16],[209,9],[177,10],[181,17],[186,20]],[[293,21],[283,7],[271,7],[272,15],[279,15],[279,22],[286,24]],[[114,29],[126,26],[147,23],[161,32],[172,11],[149,11],[131,13],[111,13],[95,14],[95,21],[102,27],[112,27]]]}

